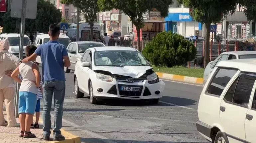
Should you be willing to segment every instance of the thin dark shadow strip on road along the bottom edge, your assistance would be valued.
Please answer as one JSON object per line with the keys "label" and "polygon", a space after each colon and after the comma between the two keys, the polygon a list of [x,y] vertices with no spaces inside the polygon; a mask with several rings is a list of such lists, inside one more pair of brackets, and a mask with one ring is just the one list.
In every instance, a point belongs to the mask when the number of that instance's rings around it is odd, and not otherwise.
{"label": "thin dark shadow strip on road along the bottom edge", "polygon": [[[112,140],[112,139],[96,139],[96,138],[82,138],[81,142],[86,143],[198,143],[198,142],[172,142],[172,141],[144,141],[144,140]],[[208,142],[200,142],[208,143]]]}

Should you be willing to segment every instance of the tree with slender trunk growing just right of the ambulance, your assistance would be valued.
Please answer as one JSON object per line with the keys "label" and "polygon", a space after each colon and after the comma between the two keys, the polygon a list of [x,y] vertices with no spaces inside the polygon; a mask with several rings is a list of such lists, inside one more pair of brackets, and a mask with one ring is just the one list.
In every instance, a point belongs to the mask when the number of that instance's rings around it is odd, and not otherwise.
{"label": "tree with slender trunk growing just right of the ambulance", "polygon": [[98,0],[61,0],[62,4],[72,4],[79,8],[84,15],[85,20],[90,25],[90,37],[93,41],[93,25],[97,19],[97,13],[99,12]]}

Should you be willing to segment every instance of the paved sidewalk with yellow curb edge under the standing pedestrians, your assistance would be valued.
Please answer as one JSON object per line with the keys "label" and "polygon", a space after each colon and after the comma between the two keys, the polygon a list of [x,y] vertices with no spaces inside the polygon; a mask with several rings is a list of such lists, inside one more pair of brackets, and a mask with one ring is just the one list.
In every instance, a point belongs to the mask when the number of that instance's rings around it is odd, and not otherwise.
{"label": "paved sidewalk with yellow curb edge under the standing pedestrians", "polygon": [[[6,114],[5,111],[3,111]],[[5,119],[6,119],[6,115]],[[19,123],[18,118],[16,118],[17,123]],[[34,116],[35,123],[35,116]],[[80,138],[78,136],[72,135],[65,130],[62,130],[62,134],[65,136],[64,141],[44,141],[43,137],[43,123],[39,120],[40,128],[31,129],[30,131],[37,136],[37,138],[20,138],[20,127],[7,127],[0,126],[0,143],[80,143]],[[51,131],[51,138],[53,139],[53,131]]]}

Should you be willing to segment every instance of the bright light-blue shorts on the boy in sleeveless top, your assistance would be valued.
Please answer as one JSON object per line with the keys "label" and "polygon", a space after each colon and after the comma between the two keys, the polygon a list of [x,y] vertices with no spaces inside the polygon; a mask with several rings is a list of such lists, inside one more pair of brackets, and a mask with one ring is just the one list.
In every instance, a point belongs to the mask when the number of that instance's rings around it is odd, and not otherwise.
{"label": "bright light-blue shorts on the boy in sleeveless top", "polygon": [[37,104],[37,95],[31,92],[19,92],[19,114],[34,114]]}

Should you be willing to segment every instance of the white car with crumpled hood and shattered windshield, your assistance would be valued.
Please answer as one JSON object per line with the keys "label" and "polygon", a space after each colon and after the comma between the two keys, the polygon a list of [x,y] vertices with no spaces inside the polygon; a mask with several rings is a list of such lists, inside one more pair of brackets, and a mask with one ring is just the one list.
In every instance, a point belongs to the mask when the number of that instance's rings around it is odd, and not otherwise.
{"label": "white car with crumpled hood and shattered windshield", "polygon": [[97,98],[151,99],[162,97],[160,81],[145,57],[130,47],[89,48],[75,65],[75,95]]}

